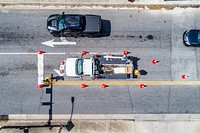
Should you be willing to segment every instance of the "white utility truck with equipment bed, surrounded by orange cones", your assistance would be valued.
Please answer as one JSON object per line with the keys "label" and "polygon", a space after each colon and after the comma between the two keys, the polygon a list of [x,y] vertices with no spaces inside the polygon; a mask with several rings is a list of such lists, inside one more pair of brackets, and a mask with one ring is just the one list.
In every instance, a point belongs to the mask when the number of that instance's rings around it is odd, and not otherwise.
{"label": "white utility truck with equipment bed, surrounded by orange cones", "polygon": [[54,69],[60,76],[91,77],[105,79],[127,79],[133,77],[133,60],[125,55],[93,55],[84,58],[67,58],[60,62],[60,69]]}

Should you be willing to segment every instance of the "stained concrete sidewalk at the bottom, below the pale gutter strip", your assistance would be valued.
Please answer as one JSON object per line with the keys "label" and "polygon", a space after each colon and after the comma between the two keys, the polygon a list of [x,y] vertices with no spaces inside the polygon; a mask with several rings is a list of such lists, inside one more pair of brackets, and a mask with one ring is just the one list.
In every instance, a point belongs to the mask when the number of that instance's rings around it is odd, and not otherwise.
{"label": "stained concrete sidewalk at the bottom, below the pale gutter strip", "polygon": [[[199,121],[193,122],[134,122],[127,120],[72,120],[73,126],[67,128],[67,121],[51,123],[52,127],[45,127],[45,121],[16,121],[7,122],[9,125],[26,123],[33,127],[6,128],[1,133],[23,133],[27,128],[28,133],[199,133]],[[44,127],[42,127],[44,125]],[[34,127],[35,126],[35,127]],[[38,126],[38,127],[37,127]],[[25,132],[24,132],[25,133]]]}

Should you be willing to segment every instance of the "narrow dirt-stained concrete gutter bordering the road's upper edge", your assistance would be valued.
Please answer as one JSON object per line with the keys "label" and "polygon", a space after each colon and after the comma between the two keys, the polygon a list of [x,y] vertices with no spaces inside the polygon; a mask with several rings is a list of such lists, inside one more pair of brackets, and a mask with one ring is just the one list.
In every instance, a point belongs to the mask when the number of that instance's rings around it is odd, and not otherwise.
{"label": "narrow dirt-stained concrete gutter bordering the road's upper edge", "polygon": [[0,2],[0,8],[12,9],[130,9],[173,10],[174,8],[199,8],[200,3],[68,3],[68,2]]}

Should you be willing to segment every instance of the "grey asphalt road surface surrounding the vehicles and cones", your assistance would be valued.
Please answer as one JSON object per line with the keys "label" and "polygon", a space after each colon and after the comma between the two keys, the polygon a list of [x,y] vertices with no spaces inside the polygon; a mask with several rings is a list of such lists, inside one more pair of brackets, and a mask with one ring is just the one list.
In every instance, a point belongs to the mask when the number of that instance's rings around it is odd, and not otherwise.
{"label": "grey asphalt road surface surrounding the vehicles and cones", "polygon": [[[46,29],[46,19],[61,10],[8,10],[0,12],[0,114],[48,113],[49,101],[45,90],[37,88],[37,55],[39,49],[45,55],[45,76],[56,74],[59,60],[70,53],[121,52],[128,50],[139,58],[139,70],[145,70],[134,80],[199,80],[200,49],[185,47],[183,32],[200,28],[200,10],[176,9],[173,11],[131,10],[66,10],[66,13],[98,14],[104,19],[101,38],[66,38],[76,45],[55,46],[42,42],[59,38],[51,36]],[[4,53],[4,54],[2,54]],[[10,55],[8,53],[16,53]],[[18,53],[27,53],[20,55]],[[160,62],[151,64],[152,59]],[[179,86],[55,86],[53,90],[53,113],[70,113],[71,97],[75,98],[74,113],[131,114],[131,113],[199,113],[200,88],[196,85]]]}

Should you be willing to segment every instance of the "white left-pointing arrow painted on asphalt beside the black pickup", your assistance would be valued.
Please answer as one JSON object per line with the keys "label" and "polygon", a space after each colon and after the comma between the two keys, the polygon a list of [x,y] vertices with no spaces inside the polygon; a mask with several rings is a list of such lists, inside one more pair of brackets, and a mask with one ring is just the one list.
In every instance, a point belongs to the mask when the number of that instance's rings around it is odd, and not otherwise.
{"label": "white left-pointing arrow painted on asphalt beside the black pickup", "polygon": [[60,40],[61,42],[54,42],[54,39],[53,39],[47,42],[43,42],[42,44],[50,46],[50,47],[54,47],[54,45],[76,45],[76,42],[69,42],[64,37],[61,37]]}

